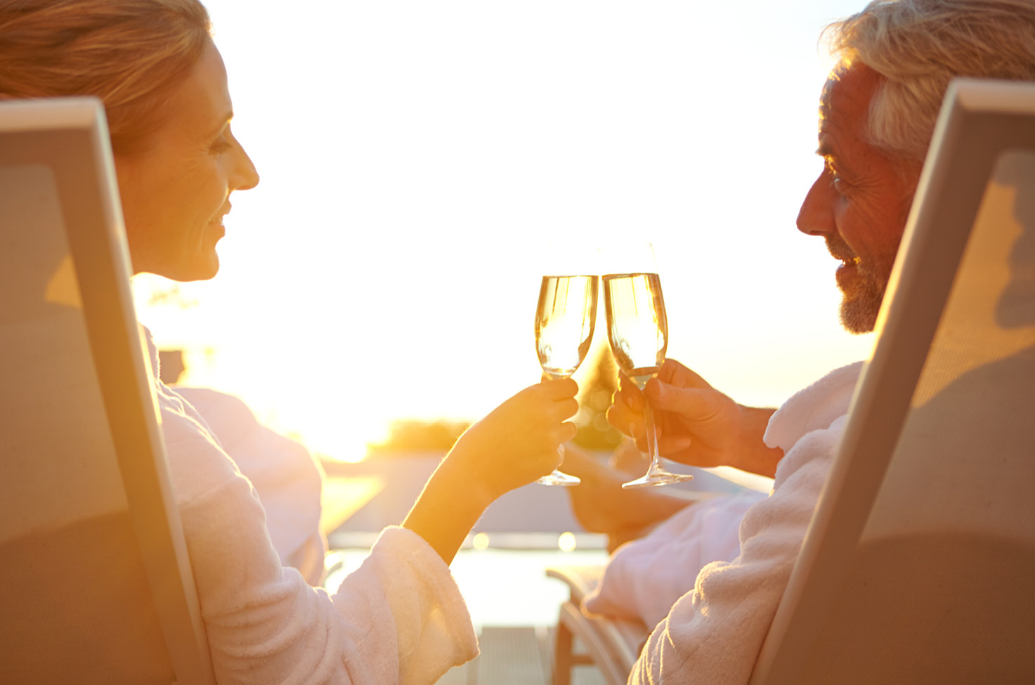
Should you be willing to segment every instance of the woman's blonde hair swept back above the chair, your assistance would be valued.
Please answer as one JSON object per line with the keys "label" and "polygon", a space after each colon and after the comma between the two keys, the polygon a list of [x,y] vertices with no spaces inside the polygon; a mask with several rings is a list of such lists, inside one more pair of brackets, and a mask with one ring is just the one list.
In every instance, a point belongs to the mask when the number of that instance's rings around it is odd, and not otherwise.
{"label": "woman's blonde hair swept back above the chair", "polygon": [[0,99],[95,95],[115,152],[135,152],[210,31],[198,0],[0,0]]}

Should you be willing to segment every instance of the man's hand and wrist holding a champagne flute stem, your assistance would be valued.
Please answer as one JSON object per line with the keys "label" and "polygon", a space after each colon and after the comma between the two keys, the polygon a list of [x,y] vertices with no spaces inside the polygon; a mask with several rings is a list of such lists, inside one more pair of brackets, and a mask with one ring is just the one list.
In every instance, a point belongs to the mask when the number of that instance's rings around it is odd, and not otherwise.
{"label": "man's hand and wrist holding a champagne flute stem", "polygon": [[[645,397],[646,395],[646,397]],[[771,409],[738,405],[674,359],[666,360],[643,392],[625,376],[608,421],[645,447],[644,403],[650,401],[658,429],[658,451],[698,467],[733,466],[766,476],[776,471],[782,450],[762,442]]]}

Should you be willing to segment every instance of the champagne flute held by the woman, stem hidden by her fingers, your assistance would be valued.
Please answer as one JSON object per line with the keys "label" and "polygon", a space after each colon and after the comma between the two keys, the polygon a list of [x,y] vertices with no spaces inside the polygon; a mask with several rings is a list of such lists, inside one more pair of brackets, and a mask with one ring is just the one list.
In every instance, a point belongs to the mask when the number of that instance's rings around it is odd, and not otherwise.
{"label": "champagne flute held by the woman, stem hidden by her fingers", "polygon": [[[597,276],[543,276],[535,310],[535,347],[539,365],[549,379],[575,373],[589,352],[596,323]],[[564,456],[564,446],[557,448]],[[539,482],[578,485],[581,481],[554,469]]]}

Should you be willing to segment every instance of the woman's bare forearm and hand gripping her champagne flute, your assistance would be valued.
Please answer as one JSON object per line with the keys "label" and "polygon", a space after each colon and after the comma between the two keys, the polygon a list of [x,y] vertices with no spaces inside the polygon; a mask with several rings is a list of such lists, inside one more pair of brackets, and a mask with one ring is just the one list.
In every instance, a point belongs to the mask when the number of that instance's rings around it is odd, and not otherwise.
{"label": "woman's bare forearm and hand gripping her champagne flute", "polygon": [[432,474],[403,526],[447,564],[490,504],[545,476],[561,461],[558,447],[575,436],[566,421],[579,410],[571,379],[525,388],[468,428]]}

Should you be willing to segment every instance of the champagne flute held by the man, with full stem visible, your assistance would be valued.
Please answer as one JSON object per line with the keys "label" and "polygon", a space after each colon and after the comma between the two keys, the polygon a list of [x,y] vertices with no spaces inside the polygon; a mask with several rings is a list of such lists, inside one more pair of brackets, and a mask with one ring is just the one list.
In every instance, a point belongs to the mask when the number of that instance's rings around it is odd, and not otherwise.
{"label": "champagne flute held by the man, with full stem visible", "polygon": [[[656,273],[613,273],[603,276],[603,306],[608,317],[608,341],[618,367],[641,390],[657,376],[669,347],[669,321]],[[645,398],[646,400],[646,398]],[[657,427],[650,403],[644,403],[644,427],[650,468],[622,487],[667,485],[693,476],[669,473],[661,468],[657,451]]]}

